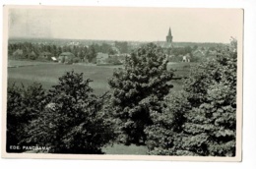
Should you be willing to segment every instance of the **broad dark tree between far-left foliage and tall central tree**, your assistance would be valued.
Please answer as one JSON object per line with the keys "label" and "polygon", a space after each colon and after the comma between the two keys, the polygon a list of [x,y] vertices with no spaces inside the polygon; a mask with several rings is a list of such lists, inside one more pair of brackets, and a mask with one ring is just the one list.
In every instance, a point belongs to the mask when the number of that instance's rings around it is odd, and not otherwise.
{"label": "broad dark tree between far-left foliage and tall central tree", "polygon": [[67,72],[49,91],[48,104],[32,121],[27,142],[50,146],[52,153],[102,153],[114,139],[112,124],[83,74]]}

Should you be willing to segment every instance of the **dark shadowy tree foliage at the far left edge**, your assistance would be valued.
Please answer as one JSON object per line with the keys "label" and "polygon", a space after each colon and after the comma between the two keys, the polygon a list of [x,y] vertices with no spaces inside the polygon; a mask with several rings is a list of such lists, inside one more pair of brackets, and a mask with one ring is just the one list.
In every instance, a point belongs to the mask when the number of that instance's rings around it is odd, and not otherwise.
{"label": "dark shadowy tree foliage at the far left edge", "polygon": [[46,105],[46,93],[41,84],[28,88],[15,84],[8,86],[7,97],[7,151],[28,137],[28,126],[38,118]]}

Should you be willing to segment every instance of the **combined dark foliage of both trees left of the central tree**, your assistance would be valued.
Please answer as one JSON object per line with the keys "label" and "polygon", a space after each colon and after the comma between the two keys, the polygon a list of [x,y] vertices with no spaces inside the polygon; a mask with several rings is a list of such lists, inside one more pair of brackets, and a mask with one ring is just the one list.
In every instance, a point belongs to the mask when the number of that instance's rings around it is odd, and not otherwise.
{"label": "combined dark foliage of both trees left of the central tree", "polygon": [[41,85],[24,90],[10,87],[8,145],[48,146],[53,153],[102,153],[101,147],[115,135],[102,111],[107,94],[93,94],[91,82],[72,71],[47,94]]}

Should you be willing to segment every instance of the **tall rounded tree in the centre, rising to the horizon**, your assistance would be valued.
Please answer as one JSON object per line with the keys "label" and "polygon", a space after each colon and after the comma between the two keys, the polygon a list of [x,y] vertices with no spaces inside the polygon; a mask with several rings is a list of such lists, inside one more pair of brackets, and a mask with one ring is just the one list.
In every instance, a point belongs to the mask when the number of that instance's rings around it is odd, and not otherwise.
{"label": "tall rounded tree in the centre, rising to the horizon", "polygon": [[152,114],[161,112],[163,97],[172,87],[168,82],[162,49],[149,43],[126,58],[125,68],[113,73],[111,112],[120,130],[120,141],[144,143],[144,130],[152,125]]}

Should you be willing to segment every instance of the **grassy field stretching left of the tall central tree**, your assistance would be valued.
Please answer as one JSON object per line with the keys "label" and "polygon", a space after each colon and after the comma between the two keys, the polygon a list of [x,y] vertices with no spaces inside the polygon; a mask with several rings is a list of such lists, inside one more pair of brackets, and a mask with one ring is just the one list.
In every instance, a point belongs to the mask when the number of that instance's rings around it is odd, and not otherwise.
{"label": "grassy field stretching left of the tall central tree", "polygon": [[91,86],[96,94],[109,89],[107,80],[112,76],[113,68],[82,66],[82,65],[62,65],[62,64],[41,64],[37,66],[27,66],[8,69],[8,83],[29,85],[33,82],[42,84],[46,89],[58,83],[58,78],[65,72],[74,70],[77,73],[84,73],[84,79],[91,79],[94,82]]}

